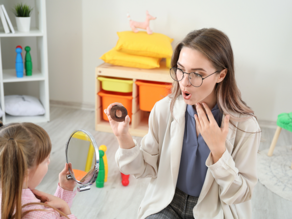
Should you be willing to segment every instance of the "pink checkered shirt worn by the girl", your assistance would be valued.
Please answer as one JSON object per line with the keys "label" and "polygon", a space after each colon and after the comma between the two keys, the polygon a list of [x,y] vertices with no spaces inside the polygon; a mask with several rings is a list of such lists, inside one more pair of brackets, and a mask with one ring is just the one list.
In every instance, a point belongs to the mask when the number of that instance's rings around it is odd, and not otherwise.
{"label": "pink checkered shirt worn by the girl", "polygon": [[[56,197],[66,201],[71,208],[73,198],[76,195],[77,190],[71,192],[62,189],[59,185],[57,187],[57,190],[55,192]],[[2,200],[2,190],[0,188],[0,214],[1,214],[1,200]],[[28,188],[28,189],[22,189],[21,194],[21,204],[27,204],[31,202],[40,202],[34,195],[34,193]],[[22,219],[66,219],[64,216],[60,217],[59,213],[55,212],[53,208],[47,208],[44,205],[28,205],[24,208],[22,208],[22,211],[32,210],[32,209],[46,209],[48,211],[33,211],[25,215]],[[73,214],[67,215],[70,219],[77,219]],[[1,218],[1,217],[0,217]]]}

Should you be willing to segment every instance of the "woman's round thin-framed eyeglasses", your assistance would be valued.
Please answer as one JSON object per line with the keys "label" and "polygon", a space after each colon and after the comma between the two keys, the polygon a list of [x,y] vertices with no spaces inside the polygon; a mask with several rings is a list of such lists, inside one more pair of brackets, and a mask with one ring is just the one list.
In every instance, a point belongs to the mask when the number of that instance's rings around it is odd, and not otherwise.
{"label": "woman's round thin-framed eyeglasses", "polygon": [[[219,71],[217,71],[219,72]],[[212,74],[215,74],[217,72],[214,72]],[[198,73],[186,73],[186,72],[183,72],[183,70],[179,69],[179,68],[171,68],[170,69],[170,76],[172,77],[173,80],[175,81],[181,81],[183,80],[183,76],[184,74],[188,74],[188,79],[189,79],[189,82],[192,86],[194,87],[200,87],[203,83],[203,80],[206,78],[202,78],[202,76]],[[210,75],[212,75],[210,74]],[[210,75],[208,75],[207,77],[209,77]]]}

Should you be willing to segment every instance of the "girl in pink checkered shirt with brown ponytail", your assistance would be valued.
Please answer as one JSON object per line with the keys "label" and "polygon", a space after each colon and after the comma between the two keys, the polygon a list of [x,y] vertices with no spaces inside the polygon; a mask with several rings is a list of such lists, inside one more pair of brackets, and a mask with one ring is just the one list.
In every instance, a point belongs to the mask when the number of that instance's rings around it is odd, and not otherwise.
{"label": "girl in pink checkered shirt with brown ponytail", "polygon": [[76,219],[70,211],[76,183],[66,179],[71,164],[59,174],[55,196],[35,190],[50,164],[47,132],[33,123],[0,126],[0,218]]}

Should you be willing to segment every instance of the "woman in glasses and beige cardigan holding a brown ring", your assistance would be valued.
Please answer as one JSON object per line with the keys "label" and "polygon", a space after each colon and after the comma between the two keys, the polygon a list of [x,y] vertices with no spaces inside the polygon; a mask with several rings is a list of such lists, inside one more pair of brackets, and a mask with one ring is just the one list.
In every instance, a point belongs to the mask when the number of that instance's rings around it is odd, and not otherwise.
{"label": "woman in glasses and beige cardigan holding a brown ring", "polygon": [[[171,94],[157,102],[141,146],[130,119],[110,118],[121,172],[152,178],[139,219],[251,219],[260,128],[241,99],[229,38],[190,32],[173,53]],[[230,121],[230,124],[229,124]]]}

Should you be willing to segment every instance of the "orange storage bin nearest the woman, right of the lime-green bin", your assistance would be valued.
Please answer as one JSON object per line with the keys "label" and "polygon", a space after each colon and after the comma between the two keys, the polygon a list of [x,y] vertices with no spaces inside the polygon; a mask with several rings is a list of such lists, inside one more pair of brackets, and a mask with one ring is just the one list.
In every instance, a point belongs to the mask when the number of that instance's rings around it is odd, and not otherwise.
{"label": "orange storage bin nearest the woman, right of the lime-green bin", "polygon": [[136,81],[139,86],[139,102],[140,109],[150,112],[155,103],[165,96],[171,90],[171,83],[156,82],[156,81]]}

